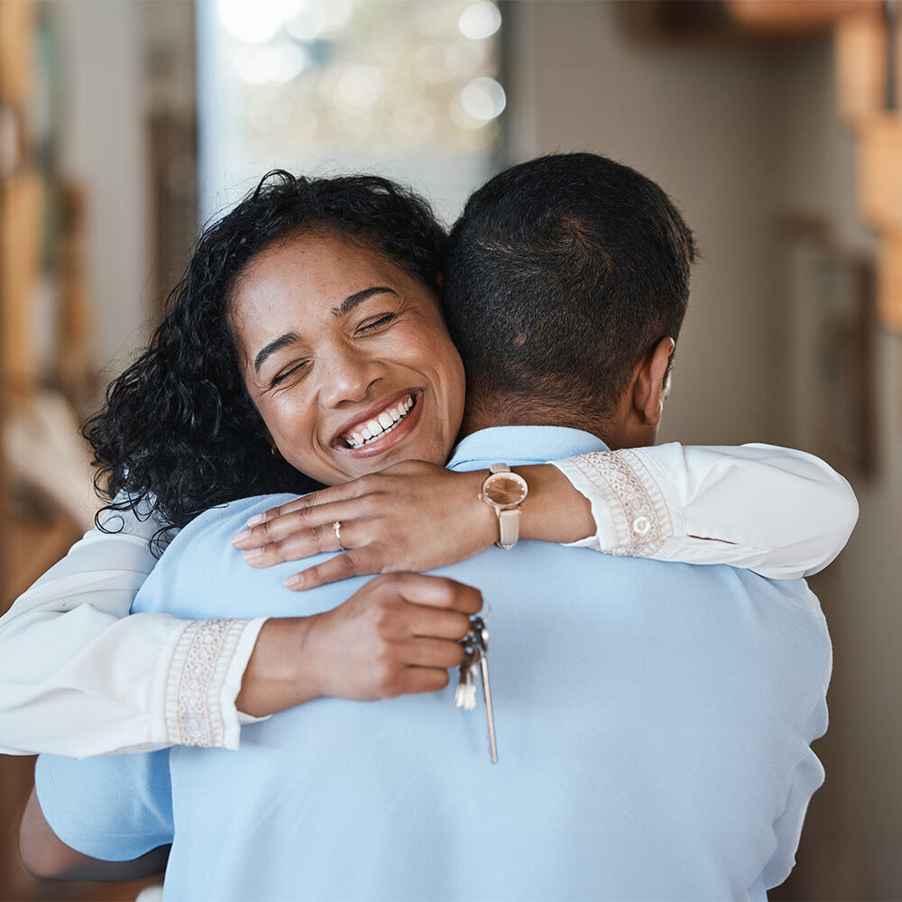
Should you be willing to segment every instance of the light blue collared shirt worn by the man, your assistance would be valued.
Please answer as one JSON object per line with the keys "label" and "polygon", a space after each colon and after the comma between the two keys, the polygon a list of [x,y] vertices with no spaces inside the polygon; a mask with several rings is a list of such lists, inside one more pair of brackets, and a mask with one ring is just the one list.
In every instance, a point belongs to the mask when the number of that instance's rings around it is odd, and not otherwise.
{"label": "light blue collared shirt worn by the man", "polygon": [[[601,449],[573,429],[492,428],[450,466]],[[294,594],[282,580],[296,563],[253,570],[232,548],[249,516],[284,500],[198,517],[135,610],[291,616],[343,602],[364,579]],[[809,744],[826,729],[831,666],[803,582],[529,541],[441,572],[491,605],[500,763],[481,694],[458,710],[454,681],[375,704],[318,699],[244,727],[237,752],[175,748],[167,899],[764,898],[786,878],[823,780]],[[127,787],[165,760],[41,759],[44,814],[80,851],[134,857],[165,832],[165,778],[143,790],[152,804],[129,803]]]}

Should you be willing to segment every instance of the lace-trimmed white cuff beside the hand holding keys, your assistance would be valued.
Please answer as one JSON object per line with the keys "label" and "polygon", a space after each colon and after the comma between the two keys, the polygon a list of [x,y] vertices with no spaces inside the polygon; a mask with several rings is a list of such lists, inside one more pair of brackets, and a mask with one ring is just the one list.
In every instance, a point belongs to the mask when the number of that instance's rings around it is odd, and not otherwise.
{"label": "lace-trimmed white cuff beside the hand holding keys", "polygon": [[166,671],[166,741],[238,748],[241,723],[253,719],[235,710],[235,696],[264,620],[189,621],[180,630]]}

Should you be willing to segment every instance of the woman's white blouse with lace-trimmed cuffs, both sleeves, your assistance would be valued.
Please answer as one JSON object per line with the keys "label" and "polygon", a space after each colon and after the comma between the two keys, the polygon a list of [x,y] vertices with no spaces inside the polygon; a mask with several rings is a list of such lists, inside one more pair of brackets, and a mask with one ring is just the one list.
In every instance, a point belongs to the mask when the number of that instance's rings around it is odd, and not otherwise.
{"label": "woman's white blouse with lace-trimmed cuffs, both sleeves", "polygon": [[[607,554],[792,579],[827,566],[858,519],[841,475],[775,446],[674,443],[555,464],[592,504],[598,531],[574,544]],[[91,529],[0,618],[0,753],[236,749],[254,720],[235,698],[265,618],[127,616],[159,523],[112,514],[110,528],[120,518],[121,531]]]}

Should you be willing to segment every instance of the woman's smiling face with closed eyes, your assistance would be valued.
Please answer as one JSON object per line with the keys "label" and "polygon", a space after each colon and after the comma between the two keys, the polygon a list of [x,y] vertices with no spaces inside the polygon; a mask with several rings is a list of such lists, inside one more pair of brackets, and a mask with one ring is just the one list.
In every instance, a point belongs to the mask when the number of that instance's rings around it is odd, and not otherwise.
{"label": "woman's smiling face with closed eyes", "polygon": [[244,384],[281,456],[327,485],[405,460],[444,464],[464,367],[413,276],[335,233],[258,254],[231,318]]}

